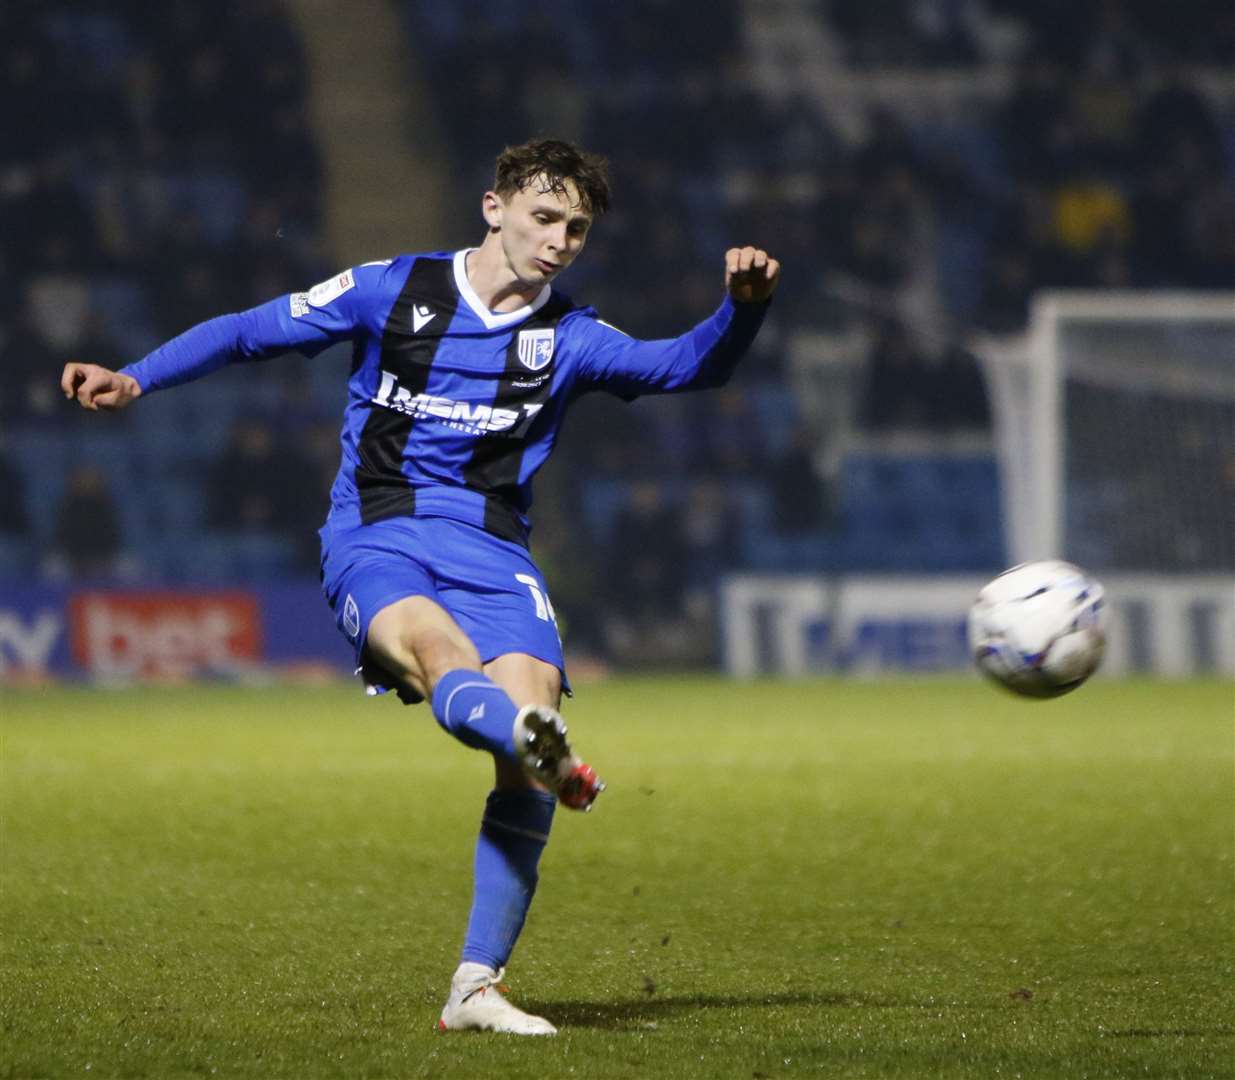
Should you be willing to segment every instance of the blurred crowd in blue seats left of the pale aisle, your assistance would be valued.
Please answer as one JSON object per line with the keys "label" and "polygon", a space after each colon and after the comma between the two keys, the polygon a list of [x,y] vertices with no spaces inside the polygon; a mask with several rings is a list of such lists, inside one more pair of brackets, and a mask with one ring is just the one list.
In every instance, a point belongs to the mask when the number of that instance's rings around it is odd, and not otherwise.
{"label": "blurred crowd in blue seats left of the pale aisle", "polygon": [[[237,419],[232,436],[226,411],[182,429],[178,413],[209,411],[207,395],[173,405],[154,437],[140,437],[152,435],[147,409],[142,421],[88,418],[58,392],[69,360],[119,367],[194,323],[330,272],[306,85],[300,40],[274,0],[0,7],[0,455],[16,504],[0,520],[9,576],[167,572],[158,552],[180,538],[137,513],[152,494],[135,489],[136,476],[167,487],[167,502],[179,497],[183,525],[269,530],[288,538],[288,550],[306,530],[312,538],[320,470],[298,497],[295,479],[308,473],[293,471],[289,483],[279,468],[237,467],[259,452],[257,429],[267,446],[278,440],[282,460],[308,455],[300,440],[312,413]],[[267,397],[294,395],[288,372],[275,378],[285,390]],[[221,509],[228,500],[217,488],[232,482],[238,504]],[[263,513],[267,503],[277,505]],[[36,542],[21,546],[22,538]]]}

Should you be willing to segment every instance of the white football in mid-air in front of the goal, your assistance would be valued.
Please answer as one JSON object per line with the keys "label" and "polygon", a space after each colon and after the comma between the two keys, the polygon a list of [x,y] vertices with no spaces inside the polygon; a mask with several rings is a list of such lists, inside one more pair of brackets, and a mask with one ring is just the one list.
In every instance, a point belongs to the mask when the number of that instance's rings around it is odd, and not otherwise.
{"label": "white football in mid-air in front of the goal", "polygon": [[986,584],[969,609],[978,670],[1025,697],[1076,690],[1107,644],[1102,586],[1071,562],[1024,562]]}

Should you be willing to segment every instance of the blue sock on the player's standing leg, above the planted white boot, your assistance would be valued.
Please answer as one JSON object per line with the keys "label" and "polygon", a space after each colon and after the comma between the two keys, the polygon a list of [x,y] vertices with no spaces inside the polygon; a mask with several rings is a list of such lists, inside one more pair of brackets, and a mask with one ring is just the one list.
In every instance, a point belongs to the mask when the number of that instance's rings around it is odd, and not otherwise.
{"label": "blue sock on the player's standing leg, above the planted white boot", "polygon": [[556,807],[553,796],[543,791],[489,792],[475,842],[475,884],[463,963],[498,970],[510,959],[536,893],[536,866]]}

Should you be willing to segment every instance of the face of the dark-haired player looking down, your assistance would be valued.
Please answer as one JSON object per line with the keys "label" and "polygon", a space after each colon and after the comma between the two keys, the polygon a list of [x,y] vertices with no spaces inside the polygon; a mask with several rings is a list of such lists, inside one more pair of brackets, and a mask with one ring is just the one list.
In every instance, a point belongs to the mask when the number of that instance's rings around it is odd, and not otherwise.
{"label": "face of the dark-haired player looking down", "polygon": [[[496,198],[496,196],[495,196]],[[583,251],[592,215],[579,205],[573,180],[566,193],[551,192],[532,180],[506,200],[498,200],[501,250],[515,277],[526,285],[543,285],[564,271]]]}

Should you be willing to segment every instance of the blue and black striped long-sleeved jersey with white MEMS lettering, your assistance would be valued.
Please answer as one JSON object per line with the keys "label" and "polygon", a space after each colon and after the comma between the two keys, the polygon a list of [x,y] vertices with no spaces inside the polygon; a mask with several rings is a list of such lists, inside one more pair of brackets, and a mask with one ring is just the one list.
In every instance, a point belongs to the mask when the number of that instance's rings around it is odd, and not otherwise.
{"label": "blue and black striped long-sleeved jersey with white MEMS lettering", "polygon": [[640,341],[551,285],[517,311],[490,311],[466,257],[364,263],[308,293],[203,323],[124,371],[148,393],[225,363],[311,356],[350,340],[332,518],[445,517],[526,544],[531,479],[574,398],[720,386],[767,306],[726,297],[680,337]]}

